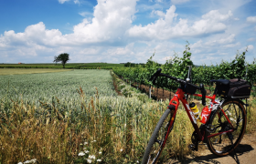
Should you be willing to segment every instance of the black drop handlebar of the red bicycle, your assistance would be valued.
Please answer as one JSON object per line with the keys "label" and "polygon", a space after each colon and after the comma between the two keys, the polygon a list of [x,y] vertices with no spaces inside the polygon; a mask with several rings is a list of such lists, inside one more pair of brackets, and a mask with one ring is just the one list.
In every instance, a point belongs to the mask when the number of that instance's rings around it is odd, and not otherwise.
{"label": "black drop handlebar of the red bicycle", "polygon": [[158,68],[157,71],[155,72],[155,74],[153,74],[153,76],[150,77],[148,81],[152,81],[152,83],[155,85],[155,80],[156,80],[157,77],[167,77],[167,78],[173,79],[173,80],[175,80],[178,83],[181,83],[183,85],[187,85],[187,86],[191,86],[191,87],[196,87],[202,93],[202,105],[203,106],[206,105],[206,93],[207,93],[207,91],[205,90],[205,87],[204,87],[203,84],[200,84],[200,86],[198,87],[198,86],[196,86],[194,84],[188,83],[187,81],[185,81],[183,79],[179,79],[179,78],[176,78],[176,77],[171,77],[171,76],[165,75],[165,74],[161,73],[161,71],[162,71],[162,69]]}

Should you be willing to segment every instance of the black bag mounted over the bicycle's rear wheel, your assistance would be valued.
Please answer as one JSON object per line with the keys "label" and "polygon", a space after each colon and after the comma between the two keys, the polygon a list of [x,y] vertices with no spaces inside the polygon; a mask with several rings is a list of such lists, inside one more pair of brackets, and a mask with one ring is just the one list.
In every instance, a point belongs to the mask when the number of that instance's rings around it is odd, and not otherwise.
{"label": "black bag mounted over the bicycle's rear wheel", "polygon": [[217,84],[217,94],[220,97],[248,98],[251,95],[251,85],[244,79],[230,79],[228,85]]}

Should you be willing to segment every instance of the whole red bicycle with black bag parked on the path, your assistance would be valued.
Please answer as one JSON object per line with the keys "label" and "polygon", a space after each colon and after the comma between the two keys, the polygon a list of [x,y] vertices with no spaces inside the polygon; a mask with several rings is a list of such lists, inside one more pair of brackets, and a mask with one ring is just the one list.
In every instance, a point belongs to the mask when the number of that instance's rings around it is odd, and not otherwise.
{"label": "whole red bicycle with black bag parked on the path", "polygon": [[[168,135],[174,127],[176,111],[180,101],[195,128],[191,137],[192,144],[189,145],[189,149],[197,150],[200,141],[207,143],[208,149],[217,156],[226,156],[236,149],[240,144],[240,140],[243,137],[246,128],[246,110],[244,106],[247,107],[248,104],[247,99],[246,103],[241,99],[250,97],[251,94],[251,88],[249,86],[244,87],[246,84],[244,83],[245,80],[238,79],[236,83],[243,84],[240,85],[240,88],[249,90],[243,94],[235,92],[231,95],[227,93],[227,89],[228,91],[232,90],[229,88],[231,84],[230,80],[210,80],[211,83],[215,82],[217,86],[215,87],[213,96],[210,97],[206,96],[206,90],[203,84],[200,84],[199,87],[197,87],[190,82],[191,67],[189,67],[186,80],[165,75],[161,73],[161,70],[162,69],[159,68],[149,81],[153,81],[153,84],[155,85],[156,78],[161,76],[175,80],[180,83],[180,86],[177,88],[175,96],[170,100],[169,106],[167,106],[165,113],[155,127],[152,137],[144,151],[142,163],[157,163],[161,153],[164,151]],[[196,94],[197,89],[201,91],[201,94]],[[185,94],[187,95],[186,97]],[[187,104],[188,95],[202,97],[202,105],[205,107],[207,107],[206,98],[210,99],[208,120],[205,124],[201,124],[200,127],[197,126],[197,118],[195,118],[193,111],[191,111]],[[217,95],[222,98],[220,101],[216,99]],[[169,150],[165,151],[165,154],[169,152]]]}

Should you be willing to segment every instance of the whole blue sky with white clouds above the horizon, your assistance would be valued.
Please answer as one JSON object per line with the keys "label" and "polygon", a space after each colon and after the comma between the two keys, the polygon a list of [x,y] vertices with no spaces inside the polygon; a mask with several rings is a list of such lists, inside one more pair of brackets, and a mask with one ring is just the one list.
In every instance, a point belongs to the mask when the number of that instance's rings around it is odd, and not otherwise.
{"label": "whole blue sky with white clouds above the horizon", "polygon": [[256,58],[256,0],[1,0],[0,63],[164,64],[190,44],[195,65]]}

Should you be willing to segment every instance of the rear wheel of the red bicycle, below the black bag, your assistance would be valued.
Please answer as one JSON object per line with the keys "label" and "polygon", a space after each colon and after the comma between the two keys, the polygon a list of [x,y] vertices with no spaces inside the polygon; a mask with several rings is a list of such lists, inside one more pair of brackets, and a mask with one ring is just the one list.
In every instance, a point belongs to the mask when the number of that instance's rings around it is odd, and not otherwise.
{"label": "rear wheel of the red bicycle, below the black bag", "polygon": [[[227,118],[225,118],[223,112],[221,111],[221,108],[223,108],[233,128],[231,128]],[[221,105],[221,108],[218,108],[213,113],[208,122],[208,124],[216,128],[215,132],[206,132],[206,137],[208,137],[214,133],[234,129],[234,131],[231,133],[218,135],[213,138],[207,138],[208,149],[213,154],[220,157],[228,155],[238,147],[246,128],[246,113],[243,107],[243,103],[239,99],[226,100]]]}

